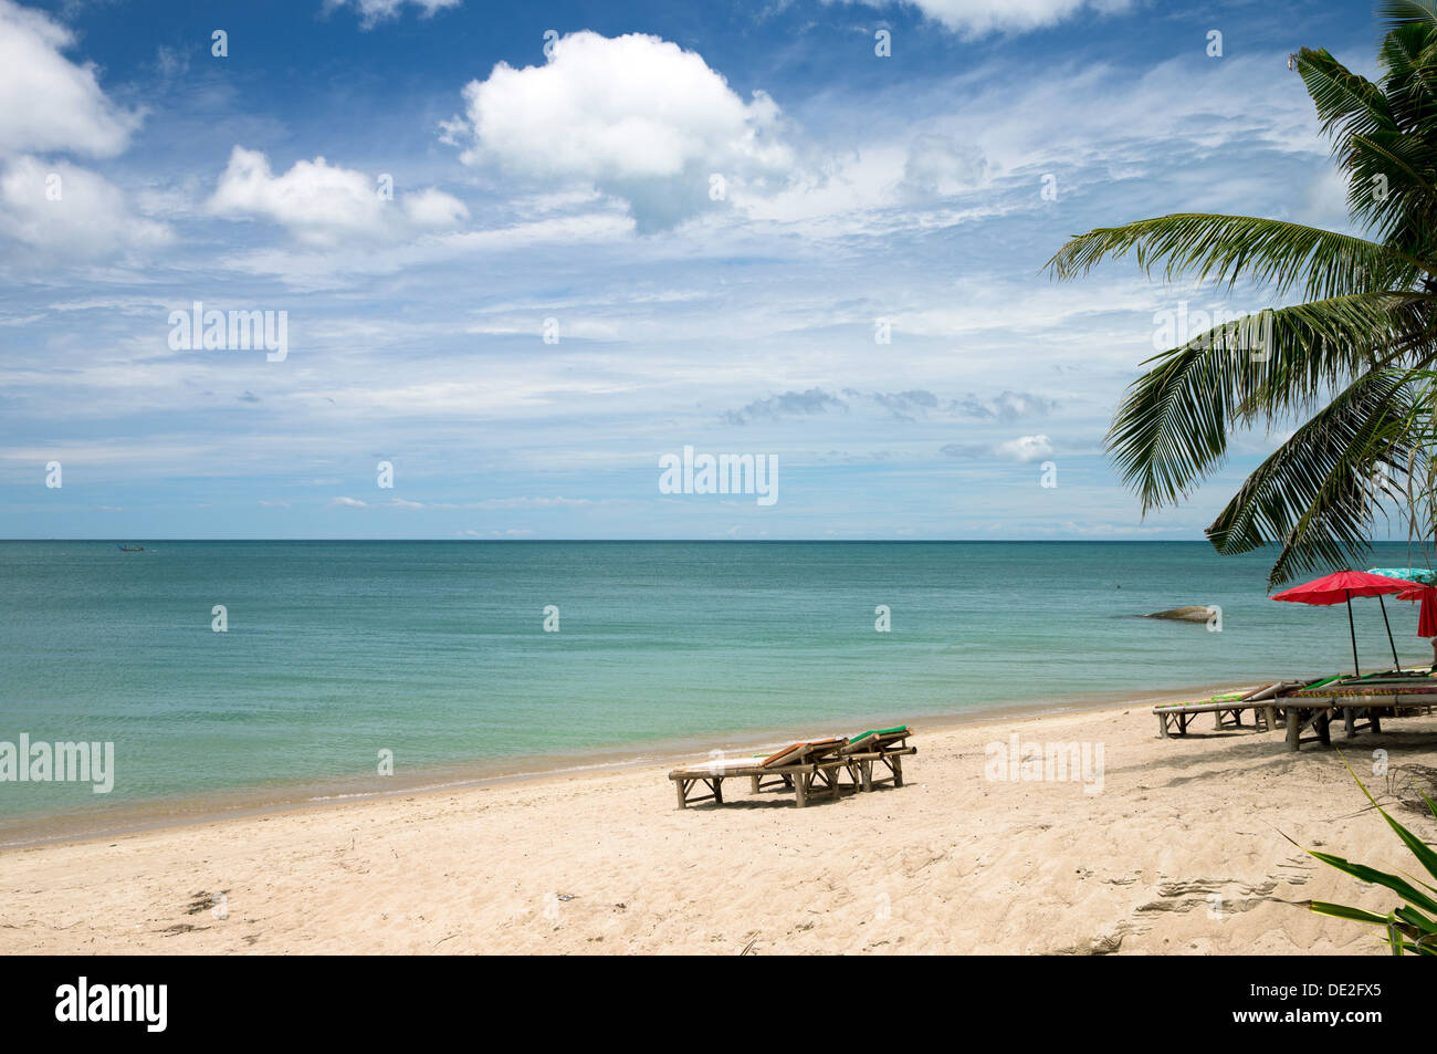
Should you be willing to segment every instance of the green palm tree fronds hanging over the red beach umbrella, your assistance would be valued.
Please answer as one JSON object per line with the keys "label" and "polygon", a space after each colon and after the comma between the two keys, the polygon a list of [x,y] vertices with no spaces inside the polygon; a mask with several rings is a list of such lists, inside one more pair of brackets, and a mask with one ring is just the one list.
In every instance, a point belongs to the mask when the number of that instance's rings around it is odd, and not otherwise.
{"label": "green palm tree fronds hanging over the red beach umbrella", "polygon": [[1346,175],[1362,236],[1250,216],[1184,213],[1101,227],[1048,262],[1059,279],[1132,252],[1148,275],[1246,279],[1266,309],[1161,352],[1114,416],[1108,450],[1144,513],[1216,470],[1229,437],[1302,421],[1207,528],[1221,554],[1277,544],[1275,587],[1367,549],[1378,515],[1434,526],[1437,365],[1437,0],[1384,0],[1378,82],[1326,49],[1289,59]]}

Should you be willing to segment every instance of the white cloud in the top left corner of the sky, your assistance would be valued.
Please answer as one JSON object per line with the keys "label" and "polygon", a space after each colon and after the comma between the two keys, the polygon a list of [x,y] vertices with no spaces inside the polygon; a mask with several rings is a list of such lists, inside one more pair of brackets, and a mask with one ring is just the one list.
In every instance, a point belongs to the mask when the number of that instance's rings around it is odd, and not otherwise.
{"label": "white cloud in the top left corner of the sky", "polygon": [[60,55],[73,43],[47,14],[0,0],[0,155],[125,148],[139,115],[105,96],[93,65]]}

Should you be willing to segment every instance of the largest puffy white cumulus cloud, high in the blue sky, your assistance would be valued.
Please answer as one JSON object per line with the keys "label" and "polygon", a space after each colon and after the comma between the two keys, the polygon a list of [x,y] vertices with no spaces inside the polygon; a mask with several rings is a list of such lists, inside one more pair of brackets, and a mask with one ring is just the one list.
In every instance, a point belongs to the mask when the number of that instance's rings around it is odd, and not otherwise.
{"label": "largest puffy white cumulus cloud, high in the blue sky", "polygon": [[792,165],[772,98],[754,92],[744,102],[698,53],[657,36],[570,33],[543,66],[500,62],[471,81],[464,104],[441,138],[464,142],[467,164],[593,185],[627,201],[641,232],[713,207],[729,184],[763,184]]}

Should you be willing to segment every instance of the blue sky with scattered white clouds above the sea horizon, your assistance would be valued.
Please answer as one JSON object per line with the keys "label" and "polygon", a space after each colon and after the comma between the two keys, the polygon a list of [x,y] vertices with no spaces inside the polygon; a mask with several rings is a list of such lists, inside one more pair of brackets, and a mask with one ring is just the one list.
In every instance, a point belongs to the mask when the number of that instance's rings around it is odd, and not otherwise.
{"label": "blue sky with scattered white clouds above the sea horizon", "polygon": [[[1147,516],[1104,436],[1174,319],[1275,301],[1045,263],[1174,211],[1346,229],[1286,56],[1372,75],[1378,35],[1335,1],[0,0],[0,536],[1200,539],[1283,424]],[[665,485],[685,447],[772,500]]]}

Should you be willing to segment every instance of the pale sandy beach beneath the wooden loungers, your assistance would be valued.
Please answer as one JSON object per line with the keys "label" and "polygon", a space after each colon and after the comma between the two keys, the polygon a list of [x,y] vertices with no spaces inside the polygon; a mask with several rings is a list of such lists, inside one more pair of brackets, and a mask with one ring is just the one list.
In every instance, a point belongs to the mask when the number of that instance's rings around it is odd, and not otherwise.
{"label": "pale sandy beach beneath the wooden loungers", "polygon": [[[1410,867],[1336,751],[1198,725],[1160,739],[1144,705],[918,729],[905,787],[805,810],[736,779],[680,811],[655,765],[17,848],[0,953],[1378,953],[1296,906],[1392,897],[1285,834]],[[1013,736],[1101,745],[1101,782],[990,778]],[[1437,716],[1335,743],[1374,791],[1385,749],[1415,798]]]}

